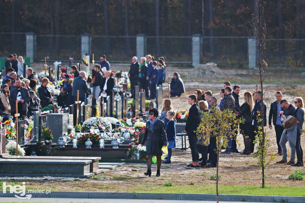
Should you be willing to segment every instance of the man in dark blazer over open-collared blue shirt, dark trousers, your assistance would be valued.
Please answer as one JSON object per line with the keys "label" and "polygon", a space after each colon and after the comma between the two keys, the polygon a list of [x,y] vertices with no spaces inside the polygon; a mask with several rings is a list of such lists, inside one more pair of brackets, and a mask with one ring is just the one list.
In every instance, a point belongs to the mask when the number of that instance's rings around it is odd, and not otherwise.
{"label": "man in dark blazer over open-collared blue shirt, dark trousers", "polygon": [[276,101],[272,102],[270,105],[269,111],[269,128],[272,130],[271,120],[273,121],[275,135],[276,135],[276,144],[278,145],[278,155],[283,155],[282,148],[280,145],[280,140],[282,133],[284,131],[283,124],[281,123],[280,112],[284,110],[281,105],[282,92],[277,91],[275,93]]}

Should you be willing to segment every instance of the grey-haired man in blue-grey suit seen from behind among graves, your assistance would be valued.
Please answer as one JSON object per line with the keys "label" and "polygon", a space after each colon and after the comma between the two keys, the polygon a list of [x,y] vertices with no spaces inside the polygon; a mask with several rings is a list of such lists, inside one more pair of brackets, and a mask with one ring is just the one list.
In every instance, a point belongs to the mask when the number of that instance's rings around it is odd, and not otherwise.
{"label": "grey-haired man in blue-grey suit seen from behind among graves", "polygon": [[77,101],[77,90],[79,90],[79,101],[85,102],[86,92],[88,91],[87,82],[84,80],[85,77],[86,72],[81,71],[79,77],[73,80],[72,96],[74,96],[74,101]]}

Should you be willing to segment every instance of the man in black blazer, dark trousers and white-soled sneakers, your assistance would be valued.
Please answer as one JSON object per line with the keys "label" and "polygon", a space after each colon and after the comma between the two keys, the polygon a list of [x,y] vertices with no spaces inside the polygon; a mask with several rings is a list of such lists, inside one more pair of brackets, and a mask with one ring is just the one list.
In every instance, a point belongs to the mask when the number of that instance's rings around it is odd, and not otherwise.
{"label": "man in black blazer, dark trousers and white-soled sneakers", "polygon": [[188,96],[188,104],[191,105],[191,108],[188,112],[188,119],[185,124],[184,133],[188,135],[188,142],[191,148],[192,153],[192,163],[185,165],[185,168],[196,169],[199,168],[199,153],[197,148],[197,135],[194,131],[197,130],[197,127],[200,124],[200,114],[201,111],[196,104],[197,97],[195,94]]}

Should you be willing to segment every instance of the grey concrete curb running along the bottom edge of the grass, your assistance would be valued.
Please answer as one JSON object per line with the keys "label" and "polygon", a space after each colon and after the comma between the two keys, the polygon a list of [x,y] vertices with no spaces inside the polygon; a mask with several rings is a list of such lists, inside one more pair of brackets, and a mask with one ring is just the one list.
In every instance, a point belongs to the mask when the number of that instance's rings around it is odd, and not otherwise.
{"label": "grey concrete curb running along the bottom edge of the grass", "polygon": [[[30,193],[27,193],[30,194]],[[1,197],[14,197],[15,193],[0,191]],[[20,194],[16,194],[20,196]],[[51,191],[49,194],[32,194],[34,198],[107,198],[107,199],[166,199],[166,200],[203,200],[216,201],[216,194],[190,194],[190,193],[132,193],[132,192],[60,192]],[[219,194],[219,201],[246,201],[246,202],[292,202],[304,203],[305,197],[292,196],[264,196]]]}

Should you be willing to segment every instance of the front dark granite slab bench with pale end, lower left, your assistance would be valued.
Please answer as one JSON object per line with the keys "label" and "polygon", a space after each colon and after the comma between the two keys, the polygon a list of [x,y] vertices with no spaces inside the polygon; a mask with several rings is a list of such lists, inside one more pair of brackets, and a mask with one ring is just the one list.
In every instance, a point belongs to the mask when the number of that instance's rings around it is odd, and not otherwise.
{"label": "front dark granite slab bench with pale end, lower left", "polygon": [[94,175],[90,173],[91,160],[78,159],[0,159],[0,176],[54,176],[88,178]]}

